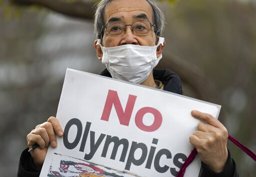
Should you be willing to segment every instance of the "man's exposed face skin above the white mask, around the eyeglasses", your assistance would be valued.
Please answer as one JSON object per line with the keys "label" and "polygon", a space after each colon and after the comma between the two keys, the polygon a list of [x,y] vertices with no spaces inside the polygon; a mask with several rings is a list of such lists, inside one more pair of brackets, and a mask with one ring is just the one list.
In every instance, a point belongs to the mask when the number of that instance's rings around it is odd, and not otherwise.
{"label": "man's exposed face skin above the white mask, around the eyeglasses", "polygon": [[[121,21],[125,24],[131,24],[134,21],[147,20],[152,21],[152,7],[146,0],[113,0],[104,10],[104,21]],[[107,35],[104,30],[102,45],[113,47],[123,44],[136,44],[153,46],[155,45],[154,27],[147,35],[136,35],[132,32],[131,26],[126,26],[126,30],[119,36]]]}

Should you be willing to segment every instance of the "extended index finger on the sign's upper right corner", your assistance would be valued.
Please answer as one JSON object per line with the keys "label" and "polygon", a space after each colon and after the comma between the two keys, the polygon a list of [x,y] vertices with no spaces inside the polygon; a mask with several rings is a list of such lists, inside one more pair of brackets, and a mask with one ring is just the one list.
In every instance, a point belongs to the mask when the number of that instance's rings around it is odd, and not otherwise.
{"label": "extended index finger on the sign's upper right corner", "polygon": [[218,128],[223,126],[215,117],[213,117],[208,113],[200,112],[198,110],[192,110],[191,115],[199,120],[202,120],[211,124],[212,126],[215,126]]}

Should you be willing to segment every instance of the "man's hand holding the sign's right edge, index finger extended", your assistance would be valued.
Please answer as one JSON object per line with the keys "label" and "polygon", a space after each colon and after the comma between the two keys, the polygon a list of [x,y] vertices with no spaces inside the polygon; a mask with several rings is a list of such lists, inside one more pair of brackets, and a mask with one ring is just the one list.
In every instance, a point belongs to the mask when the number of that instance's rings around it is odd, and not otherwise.
{"label": "man's hand holding the sign's right edge, index finger extended", "polygon": [[203,163],[215,172],[222,171],[228,155],[226,128],[208,113],[192,110],[191,115],[202,121],[198,124],[198,130],[190,135],[189,141]]}

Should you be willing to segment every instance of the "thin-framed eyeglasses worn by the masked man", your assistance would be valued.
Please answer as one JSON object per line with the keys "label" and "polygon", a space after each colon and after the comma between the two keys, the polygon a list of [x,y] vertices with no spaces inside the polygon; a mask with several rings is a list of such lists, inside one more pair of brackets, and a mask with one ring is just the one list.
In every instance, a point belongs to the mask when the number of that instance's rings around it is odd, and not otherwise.
{"label": "thin-framed eyeglasses worn by the masked man", "polygon": [[120,21],[110,21],[106,25],[102,26],[102,29],[105,27],[106,33],[111,36],[118,36],[123,34],[126,30],[126,26],[131,26],[132,31],[137,35],[147,35],[151,32],[152,26],[149,21],[135,21],[132,24],[125,24]]}

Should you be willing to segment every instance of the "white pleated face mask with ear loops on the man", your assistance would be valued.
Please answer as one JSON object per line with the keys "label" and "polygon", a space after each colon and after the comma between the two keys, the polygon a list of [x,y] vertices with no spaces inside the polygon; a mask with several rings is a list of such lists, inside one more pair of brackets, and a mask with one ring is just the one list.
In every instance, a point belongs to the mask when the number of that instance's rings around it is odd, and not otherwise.
{"label": "white pleated face mask with ear loops on the man", "polygon": [[156,49],[159,44],[163,45],[164,38],[159,37],[157,45],[142,46],[126,44],[114,47],[104,47],[100,39],[96,45],[100,45],[103,55],[102,63],[113,78],[141,83],[150,74],[162,55],[156,57]]}

